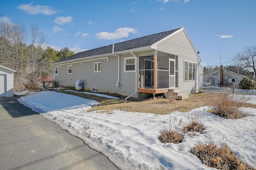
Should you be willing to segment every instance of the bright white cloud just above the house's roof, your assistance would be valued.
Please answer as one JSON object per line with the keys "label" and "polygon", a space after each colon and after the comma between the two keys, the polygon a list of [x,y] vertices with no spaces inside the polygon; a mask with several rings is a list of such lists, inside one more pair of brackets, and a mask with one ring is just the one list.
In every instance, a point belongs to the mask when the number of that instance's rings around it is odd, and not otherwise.
{"label": "bright white cloud just above the house's roof", "polygon": [[121,39],[121,38],[127,38],[129,36],[129,33],[137,33],[137,29],[134,28],[128,28],[128,27],[123,27],[123,28],[118,28],[114,31],[114,33],[110,32],[101,32],[101,33],[96,33],[95,36],[98,39]]}

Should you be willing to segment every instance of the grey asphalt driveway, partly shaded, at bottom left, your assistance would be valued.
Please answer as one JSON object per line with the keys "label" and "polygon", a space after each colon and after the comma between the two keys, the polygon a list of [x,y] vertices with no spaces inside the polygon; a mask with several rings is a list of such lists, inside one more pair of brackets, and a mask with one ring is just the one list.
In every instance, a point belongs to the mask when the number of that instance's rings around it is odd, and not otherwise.
{"label": "grey asphalt driveway, partly shaded, at bottom left", "polygon": [[0,98],[1,170],[119,169],[102,153],[17,99]]}

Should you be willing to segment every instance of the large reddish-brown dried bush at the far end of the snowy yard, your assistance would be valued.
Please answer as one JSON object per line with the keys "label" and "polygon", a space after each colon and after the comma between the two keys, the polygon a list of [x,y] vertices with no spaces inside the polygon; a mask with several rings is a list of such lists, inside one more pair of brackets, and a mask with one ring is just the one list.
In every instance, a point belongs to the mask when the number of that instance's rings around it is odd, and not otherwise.
{"label": "large reddish-brown dried bush at the far end of the snowy yard", "polygon": [[244,96],[231,97],[229,95],[215,95],[212,98],[211,113],[226,119],[240,119],[244,117],[242,107],[248,98]]}

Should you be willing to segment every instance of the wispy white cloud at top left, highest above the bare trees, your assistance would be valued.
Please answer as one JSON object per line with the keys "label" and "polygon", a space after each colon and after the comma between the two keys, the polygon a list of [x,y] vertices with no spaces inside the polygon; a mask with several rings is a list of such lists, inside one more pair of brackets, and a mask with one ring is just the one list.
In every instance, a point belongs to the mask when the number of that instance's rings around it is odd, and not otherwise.
{"label": "wispy white cloud at top left, highest above the bare trees", "polygon": [[30,15],[43,14],[50,16],[57,12],[57,10],[53,10],[51,6],[33,6],[32,4],[33,2],[31,2],[30,4],[19,5],[18,8]]}

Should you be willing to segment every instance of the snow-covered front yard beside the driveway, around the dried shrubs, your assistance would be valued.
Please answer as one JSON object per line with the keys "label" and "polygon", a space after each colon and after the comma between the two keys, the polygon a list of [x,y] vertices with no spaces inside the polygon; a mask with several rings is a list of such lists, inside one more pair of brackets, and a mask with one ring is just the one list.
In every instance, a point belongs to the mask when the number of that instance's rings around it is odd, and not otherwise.
{"label": "snow-covered front yard beside the driveway, around the dried shrubs", "polygon": [[[256,96],[250,102],[255,104]],[[231,150],[242,161],[256,168],[256,109],[245,108],[246,117],[237,120],[224,119],[208,113],[208,106],[170,115],[154,115],[125,111],[87,112],[94,100],[64,93],[42,91],[18,99],[20,103],[59,124],[63,129],[99,150],[122,169],[212,169],[202,164],[190,153],[198,142],[214,141],[218,146],[228,143]],[[175,117],[185,121],[184,115],[202,114],[205,130],[202,134],[186,134],[180,144],[161,143],[158,139],[160,127]]]}

